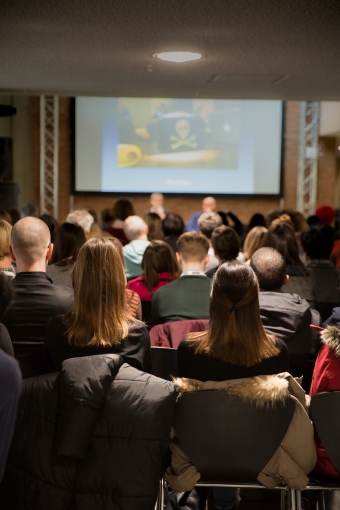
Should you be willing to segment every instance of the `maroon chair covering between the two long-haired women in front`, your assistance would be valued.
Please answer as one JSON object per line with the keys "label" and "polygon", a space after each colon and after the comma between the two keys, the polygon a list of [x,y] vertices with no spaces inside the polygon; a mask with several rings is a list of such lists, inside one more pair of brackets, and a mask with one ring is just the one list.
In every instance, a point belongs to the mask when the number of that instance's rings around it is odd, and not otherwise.
{"label": "maroon chair covering between the two long-haired women in front", "polygon": [[167,322],[154,326],[150,331],[151,345],[173,347],[177,349],[178,344],[189,333],[196,333],[207,329],[207,319],[193,319],[185,321]]}

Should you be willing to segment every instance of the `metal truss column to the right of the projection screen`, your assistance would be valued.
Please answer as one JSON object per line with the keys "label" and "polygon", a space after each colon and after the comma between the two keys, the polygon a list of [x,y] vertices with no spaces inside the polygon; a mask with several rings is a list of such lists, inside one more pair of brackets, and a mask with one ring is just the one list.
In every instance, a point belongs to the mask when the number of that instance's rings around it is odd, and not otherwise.
{"label": "metal truss column to the right of the projection screen", "polygon": [[300,103],[299,162],[296,208],[305,216],[315,214],[319,156],[319,103]]}

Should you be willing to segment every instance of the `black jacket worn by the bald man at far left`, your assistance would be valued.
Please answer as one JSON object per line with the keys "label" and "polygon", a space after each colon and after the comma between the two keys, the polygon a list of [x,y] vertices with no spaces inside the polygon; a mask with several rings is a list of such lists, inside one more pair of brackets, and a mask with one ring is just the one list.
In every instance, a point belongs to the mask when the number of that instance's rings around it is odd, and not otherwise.
{"label": "black jacket worn by the bald man at far left", "polygon": [[53,285],[46,273],[18,273],[14,299],[2,318],[12,342],[43,342],[48,319],[73,306],[73,290]]}

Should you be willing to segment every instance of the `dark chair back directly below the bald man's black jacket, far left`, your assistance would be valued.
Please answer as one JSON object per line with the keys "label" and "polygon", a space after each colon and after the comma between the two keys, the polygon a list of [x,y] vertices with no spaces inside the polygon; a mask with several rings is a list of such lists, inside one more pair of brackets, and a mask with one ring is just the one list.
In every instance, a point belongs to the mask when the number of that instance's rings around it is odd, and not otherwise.
{"label": "dark chair back directly below the bald man's black jacket, far left", "polygon": [[23,379],[54,372],[47,362],[43,342],[13,342],[13,349]]}

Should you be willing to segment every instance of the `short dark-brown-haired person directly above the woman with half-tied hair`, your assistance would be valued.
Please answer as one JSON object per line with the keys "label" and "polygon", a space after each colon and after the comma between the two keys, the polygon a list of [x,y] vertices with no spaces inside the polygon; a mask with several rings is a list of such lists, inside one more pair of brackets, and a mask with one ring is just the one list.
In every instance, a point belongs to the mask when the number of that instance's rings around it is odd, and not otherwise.
{"label": "short dark-brown-haired person directly above the woman with half-tied hair", "polygon": [[[239,257],[240,237],[233,228],[224,225],[215,228],[211,236],[211,242],[219,264],[236,260]],[[207,271],[207,276],[212,278],[217,269],[218,266]]]}

